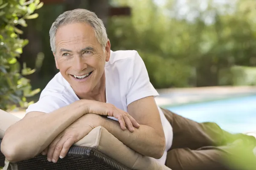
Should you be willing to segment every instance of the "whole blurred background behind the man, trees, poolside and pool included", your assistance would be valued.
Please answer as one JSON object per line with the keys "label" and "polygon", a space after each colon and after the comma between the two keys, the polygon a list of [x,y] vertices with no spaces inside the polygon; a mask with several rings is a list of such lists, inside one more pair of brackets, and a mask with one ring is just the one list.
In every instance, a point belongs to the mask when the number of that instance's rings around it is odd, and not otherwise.
{"label": "whole blurred background behind the man, trees, poolside and pool included", "polygon": [[[105,23],[113,51],[139,52],[160,93],[159,105],[232,132],[256,130],[255,0],[40,1],[39,9],[25,4],[37,16],[15,25],[23,31],[20,38],[29,40],[17,56],[19,69],[32,73],[20,84],[36,90],[26,99],[13,92],[19,99],[9,95],[2,102],[23,102],[26,108],[38,100],[38,88],[58,72],[49,44],[52,22],[64,11],[86,8]],[[6,103],[2,107],[10,109]]]}

